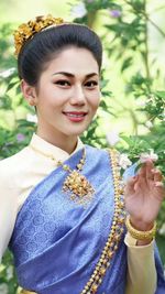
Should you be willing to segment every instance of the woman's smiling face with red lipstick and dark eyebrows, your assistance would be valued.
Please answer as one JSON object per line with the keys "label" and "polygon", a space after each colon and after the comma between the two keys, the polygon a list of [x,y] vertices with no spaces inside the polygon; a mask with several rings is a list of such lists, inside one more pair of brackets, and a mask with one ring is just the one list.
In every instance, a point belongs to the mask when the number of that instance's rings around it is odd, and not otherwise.
{"label": "woman's smiling face with red lipstick and dark eyebrows", "polygon": [[99,100],[99,68],[92,54],[77,47],[62,51],[42,73],[35,91],[38,135],[77,138],[92,120]]}

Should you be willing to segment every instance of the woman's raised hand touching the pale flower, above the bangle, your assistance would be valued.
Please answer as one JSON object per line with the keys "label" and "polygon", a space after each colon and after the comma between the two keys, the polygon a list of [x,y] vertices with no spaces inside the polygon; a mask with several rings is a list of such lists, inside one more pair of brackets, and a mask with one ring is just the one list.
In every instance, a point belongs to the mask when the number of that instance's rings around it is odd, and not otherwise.
{"label": "woman's raised hand touching the pale flower, above the bangle", "polygon": [[125,209],[135,229],[144,231],[153,227],[165,195],[162,179],[162,173],[147,160],[138,175],[128,181]]}

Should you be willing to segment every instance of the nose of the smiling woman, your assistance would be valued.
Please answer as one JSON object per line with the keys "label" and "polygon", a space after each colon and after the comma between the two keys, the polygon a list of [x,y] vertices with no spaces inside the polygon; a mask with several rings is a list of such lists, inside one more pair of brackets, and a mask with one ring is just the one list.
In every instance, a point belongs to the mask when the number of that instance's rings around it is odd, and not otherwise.
{"label": "nose of the smiling woman", "polygon": [[81,85],[75,86],[72,92],[70,104],[84,106],[86,102],[85,91]]}

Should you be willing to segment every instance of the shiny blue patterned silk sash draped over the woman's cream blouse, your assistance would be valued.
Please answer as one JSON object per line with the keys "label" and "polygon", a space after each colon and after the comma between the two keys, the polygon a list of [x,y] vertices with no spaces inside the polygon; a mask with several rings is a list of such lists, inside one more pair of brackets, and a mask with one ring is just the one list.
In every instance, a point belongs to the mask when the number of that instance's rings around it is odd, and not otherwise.
{"label": "shiny blue patterned silk sash draped over the woman's cream blouse", "polygon": [[[110,233],[114,192],[108,152],[86,146],[86,153],[81,173],[95,188],[86,208],[62,192],[68,173],[59,166],[36,185],[18,214],[10,249],[23,288],[38,294],[79,294],[95,270]],[[79,150],[66,164],[74,170],[81,155]],[[123,239],[124,233],[98,294],[125,293]],[[155,261],[156,294],[163,294],[165,282],[156,251]]]}

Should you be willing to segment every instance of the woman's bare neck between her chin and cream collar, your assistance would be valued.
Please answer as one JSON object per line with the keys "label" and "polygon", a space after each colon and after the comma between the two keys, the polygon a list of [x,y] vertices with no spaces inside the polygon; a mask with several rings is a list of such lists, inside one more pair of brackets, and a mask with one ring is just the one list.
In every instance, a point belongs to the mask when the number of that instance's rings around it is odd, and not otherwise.
{"label": "woman's bare neck between her chin and cream collar", "polygon": [[37,128],[36,134],[48,143],[66,151],[68,154],[72,154],[76,149],[78,138],[77,135],[57,135],[56,133],[48,133],[40,130]]}

